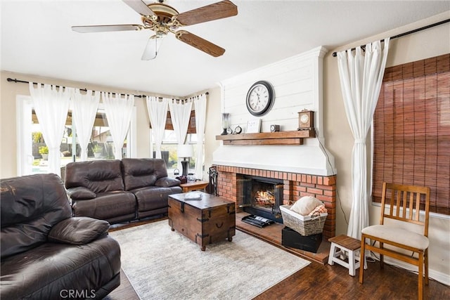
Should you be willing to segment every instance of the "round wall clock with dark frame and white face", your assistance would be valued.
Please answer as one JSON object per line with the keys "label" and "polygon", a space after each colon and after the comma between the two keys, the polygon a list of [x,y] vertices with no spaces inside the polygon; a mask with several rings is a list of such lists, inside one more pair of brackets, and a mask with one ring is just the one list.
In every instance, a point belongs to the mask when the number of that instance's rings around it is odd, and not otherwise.
{"label": "round wall clock with dark frame and white face", "polygon": [[262,116],[271,110],[274,105],[274,88],[267,81],[257,81],[247,93],[246,103],[250,114]]}

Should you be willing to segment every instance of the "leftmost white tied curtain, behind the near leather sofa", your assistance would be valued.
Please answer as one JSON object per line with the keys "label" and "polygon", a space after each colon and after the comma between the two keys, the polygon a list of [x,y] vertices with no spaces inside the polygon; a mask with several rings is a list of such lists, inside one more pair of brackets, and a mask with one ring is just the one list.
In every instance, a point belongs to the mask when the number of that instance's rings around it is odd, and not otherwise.
{"label": "leftmost white tied curtain, behind the near leather sofa", "polygon": [[49,148],[49,173],[61,176],[60,144],[63,140],[65,120],[68,117],[70,95],[72,88],[64,88],[44,84],[37,84],[34,89],[30,82],[30,95],[33,99],[34,110],[41,125],[42,136]]}

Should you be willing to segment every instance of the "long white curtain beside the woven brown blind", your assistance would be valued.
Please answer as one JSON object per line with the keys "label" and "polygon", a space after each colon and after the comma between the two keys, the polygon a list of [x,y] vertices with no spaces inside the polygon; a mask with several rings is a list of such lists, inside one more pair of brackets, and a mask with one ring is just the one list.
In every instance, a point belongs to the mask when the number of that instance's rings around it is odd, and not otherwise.
{"label": "long white curtain beside the woven brown blind", "polygon": [[352,150],[352,210],[347,235],[361,240],[361,230],[369,225],[366,136],[371,127],[385,72],[389,38],[355,51],[338,53],[342,97],[350,129],[354,137]]}

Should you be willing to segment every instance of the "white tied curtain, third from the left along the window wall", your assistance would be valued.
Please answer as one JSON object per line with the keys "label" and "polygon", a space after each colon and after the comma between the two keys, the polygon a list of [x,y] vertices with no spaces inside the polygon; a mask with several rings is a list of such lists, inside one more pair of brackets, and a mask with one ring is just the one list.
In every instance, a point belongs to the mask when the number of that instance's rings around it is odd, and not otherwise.
{"label": "white tied curtain, third from the left along the window wall", "polygon": [[111,137],[114,141],[114,157],[115,159],[122,159],[122,146],[127,137],[133,113],[134,96],[124,95],[124,98],[121,98],[120,94],[115,93],[113,96],[112,93],[105,92],[102,92],[101,95],[105,104],[105,113]]}

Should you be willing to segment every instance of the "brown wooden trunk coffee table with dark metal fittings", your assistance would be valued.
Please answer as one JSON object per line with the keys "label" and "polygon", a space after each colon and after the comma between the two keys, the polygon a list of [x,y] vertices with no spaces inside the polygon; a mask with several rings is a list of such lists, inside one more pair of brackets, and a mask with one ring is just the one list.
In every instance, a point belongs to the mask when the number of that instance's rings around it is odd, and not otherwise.
{"label": "brown wooden trunk coffee table with dark metal fittings", "polygon": [[236,204],[203,192],[202,200],[185,200],[186,193],[169,195],[169,226],[200,245],[233,240],[236,235]]}

